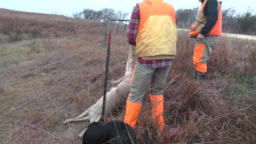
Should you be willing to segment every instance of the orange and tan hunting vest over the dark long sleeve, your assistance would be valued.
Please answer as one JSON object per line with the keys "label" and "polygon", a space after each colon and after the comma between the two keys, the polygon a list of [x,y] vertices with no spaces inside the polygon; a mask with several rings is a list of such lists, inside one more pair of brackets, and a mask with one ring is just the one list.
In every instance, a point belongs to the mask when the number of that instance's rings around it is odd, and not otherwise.
{"label": "orange and tan hunting vest over the dark long sleeve", "polygon": [[[191,38],[196,38],[197,35],[200,33],[200,30],[204,27],[204,25],[206,24],[206,16],[204,16],[204,6],[206,4],[207,0],[204,1],[204,3],[202,4],[200,11],[198,13],[198,16],[194,22],[194,24],[190,27],[190,37]],[[218,20],[216,22],[216,24],[214,25],[214,27],[212,28],[212,30],[210,31],[209,36],[221,36],[222,34],[222,11],[221,11],[221,5],[222,2],[218,2],[218,11],[219,11],[219,15],[218,15]]]}

